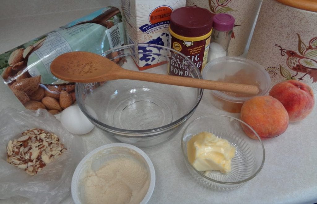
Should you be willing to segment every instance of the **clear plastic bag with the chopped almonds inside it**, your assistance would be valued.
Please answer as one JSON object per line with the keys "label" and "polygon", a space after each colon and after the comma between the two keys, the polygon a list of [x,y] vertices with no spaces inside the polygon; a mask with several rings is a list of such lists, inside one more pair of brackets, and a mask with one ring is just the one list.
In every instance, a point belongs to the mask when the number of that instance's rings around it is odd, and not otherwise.
{"label": "clear plastic bag with the chopped almonds inside it", "polygon": [[87,153],[81,137],[44,109],[7,108],[0,112],[0,138],[3,203],[57,204],[70,195],[74,170]]}

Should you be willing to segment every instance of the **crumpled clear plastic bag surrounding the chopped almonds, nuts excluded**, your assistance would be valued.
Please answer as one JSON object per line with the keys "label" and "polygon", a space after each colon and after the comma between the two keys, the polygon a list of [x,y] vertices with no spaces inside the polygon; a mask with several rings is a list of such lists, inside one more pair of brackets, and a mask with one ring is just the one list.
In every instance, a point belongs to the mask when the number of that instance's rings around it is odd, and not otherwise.
{"label": "crumpled clear plastic bag surrounding the chopped almonds, nuts excluded", "polygon": [[[70,134],[59,120],[44,109],[3,109],[0,125],[0,199],[24,197],[32,203],[60,203],[70,194],[72,175],[86,154],[82,138]],[[54,133],[67,149],[34,176],[6,161],[8,142],[32,128]]]}

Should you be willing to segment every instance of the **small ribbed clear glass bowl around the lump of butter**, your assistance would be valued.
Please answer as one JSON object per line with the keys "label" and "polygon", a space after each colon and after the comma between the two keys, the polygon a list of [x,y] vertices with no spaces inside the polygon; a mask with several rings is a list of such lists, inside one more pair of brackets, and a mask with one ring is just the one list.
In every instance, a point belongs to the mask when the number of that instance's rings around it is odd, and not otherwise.
{"label": "small ribbed clear glass bowl around the lump of butter", "polygon": [[[242,126],[254,132],[257,139],[249,138],[243,132]],[[228,140],[236,148],[235,156],[231,159],[231,171],[229,173],[197,171],[188,161],[187,142],[192,136],[203,131]],[[227,190],[242,186],[261,171],[265,160],[264,146],[259,135],[242,120],[225,115],[201,116],[193,120],[184,129],[181,146],[186,166],[191,175],[199,183],[212,189]]]}

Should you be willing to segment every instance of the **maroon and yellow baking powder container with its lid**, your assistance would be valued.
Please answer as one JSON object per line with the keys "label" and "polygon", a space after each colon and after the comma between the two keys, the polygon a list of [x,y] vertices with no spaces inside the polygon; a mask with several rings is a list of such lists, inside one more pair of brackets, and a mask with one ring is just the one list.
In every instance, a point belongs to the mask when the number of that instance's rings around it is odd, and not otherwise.
{"label": "maroon and yellow baking powder container with its lid", "polygon": [[[210,11],[192,6],[181,7],[171,13],[169,46],[189,57],[201,71],[207,63],[211,30]],[[168,73],[189,76],[183,66],[173,62],[173,59],[171,56]]]}

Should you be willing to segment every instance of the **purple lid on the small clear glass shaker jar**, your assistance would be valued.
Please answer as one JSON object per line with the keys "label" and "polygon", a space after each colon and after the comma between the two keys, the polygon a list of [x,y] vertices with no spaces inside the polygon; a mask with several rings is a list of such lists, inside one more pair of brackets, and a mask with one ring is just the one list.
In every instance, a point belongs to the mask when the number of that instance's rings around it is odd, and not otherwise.
{"label": "purple lid on the small clear glass shaker jar", "polygon": [[235,18],[229,14],[216,14],[213,17],[212,27],[218,31],[232,30]]}

